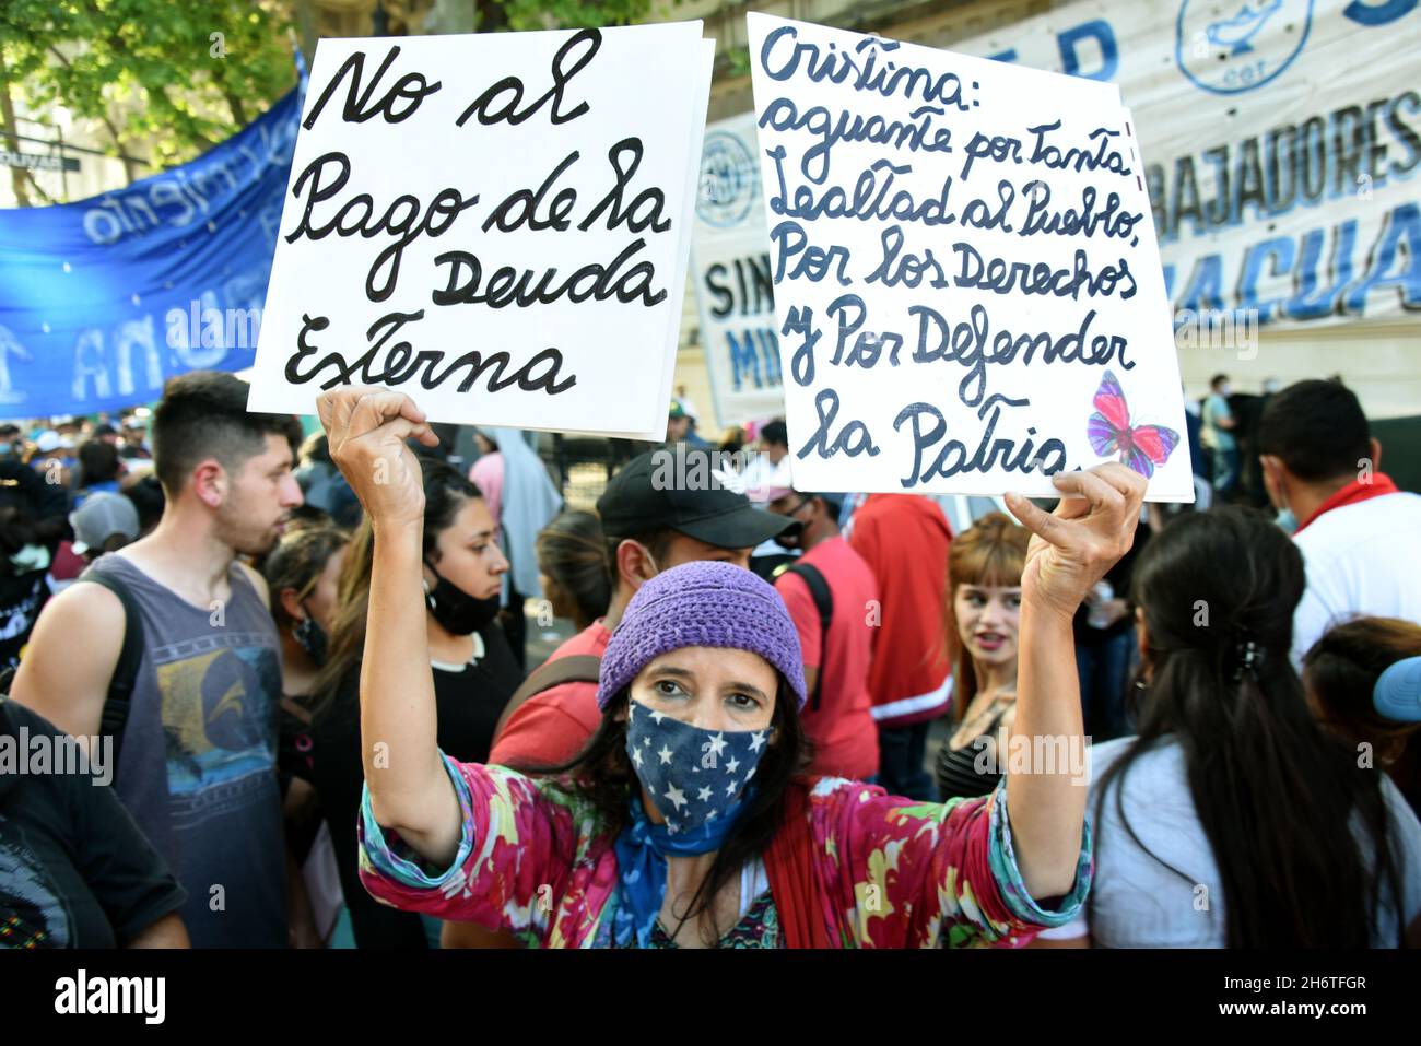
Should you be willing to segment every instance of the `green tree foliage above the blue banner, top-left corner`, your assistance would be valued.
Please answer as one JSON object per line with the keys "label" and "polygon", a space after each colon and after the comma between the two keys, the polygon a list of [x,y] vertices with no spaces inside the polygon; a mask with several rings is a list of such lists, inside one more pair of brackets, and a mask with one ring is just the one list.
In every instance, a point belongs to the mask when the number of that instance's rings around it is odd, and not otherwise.
{"label": "green tree foliage above the blue banner, top-left corner", "polygon": [[102,121],[115,155],[163,168],[291,90],[288,26],[280,0],[4,0],[0,53],[31,112]]}

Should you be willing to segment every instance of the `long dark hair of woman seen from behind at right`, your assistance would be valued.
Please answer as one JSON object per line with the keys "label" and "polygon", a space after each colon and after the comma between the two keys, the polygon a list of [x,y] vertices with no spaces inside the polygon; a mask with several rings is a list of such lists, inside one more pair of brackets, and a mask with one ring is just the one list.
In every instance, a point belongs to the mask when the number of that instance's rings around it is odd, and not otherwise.
{"label": "long dark hair of woman seen from behind at right", "polygon": [[1366,948],[1383,907],[1403,895],[1380,773],[1317,725],[1289,661],[1303,586],[1297,547],[1239,507],[1177,517],[1134,570],[1150,679],[1140,736],[1098,780],[1096,826],[1108,797],[1148,853],[1125,817],[1124,783],[1141,756],[1177,742],[1219,868],[1229,948]]}

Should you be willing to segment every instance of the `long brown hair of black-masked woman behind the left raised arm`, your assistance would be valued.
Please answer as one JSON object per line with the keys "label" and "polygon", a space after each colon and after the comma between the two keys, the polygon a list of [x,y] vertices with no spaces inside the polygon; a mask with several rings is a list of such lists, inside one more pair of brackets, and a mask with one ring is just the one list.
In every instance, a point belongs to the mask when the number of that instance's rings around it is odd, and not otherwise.
{"label": "long brown hair of black-masked woman behind the left raised arm", "polygon": [[[439,534],[453,524],[453,517],[475,497],[483,497],[452,465],[438,458],[415,455],[425,489],[425,524],[421,551],[423,559],[439,561]],[[375,559],[375,534],[367,516],[355,529],[341,564],[340,594],[331,621],[325,664],[311,685],[313,712],[330,712],[357,669],[365,651],[365,622],[369,617],[369,571]]]}

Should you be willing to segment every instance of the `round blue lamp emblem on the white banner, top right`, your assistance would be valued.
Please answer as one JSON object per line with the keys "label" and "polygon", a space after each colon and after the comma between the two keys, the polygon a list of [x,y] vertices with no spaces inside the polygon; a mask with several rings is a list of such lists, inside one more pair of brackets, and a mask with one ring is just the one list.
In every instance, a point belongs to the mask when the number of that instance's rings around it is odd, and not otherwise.
{"label": "round blue lamp emblem on the white banner, top right", "polygon": [[1241,94],[1280,75],[1302,54],[1313,0],[1184,0],[1174,54],[1179,70],[1212,94]]}

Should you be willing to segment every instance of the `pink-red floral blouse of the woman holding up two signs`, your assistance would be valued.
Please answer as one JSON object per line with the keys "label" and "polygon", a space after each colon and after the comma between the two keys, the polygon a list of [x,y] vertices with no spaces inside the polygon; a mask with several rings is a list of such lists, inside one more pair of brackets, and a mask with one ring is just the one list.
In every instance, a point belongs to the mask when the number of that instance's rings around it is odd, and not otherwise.
{"label": "pink-red floral blouse of the woman holding up two signs", "polygon": [[[443,760],[463,810],[453,864],[428,871],[375,823],[367,790],[358,826],[365,888],[396,908],[509,931],[529,947],[611,947],[617,853],[594,809],[566,780]],[[938,804],[821,777],[806,817],[826,924],[844,948],[1020,947],[1073,920],[1090,888],[1087,827],[1070,894],[1050,911],[1032,900],[1012,853],[1005,783]],[[783,947],[773,900],[756,898],[755,908],[722,947]]]}

